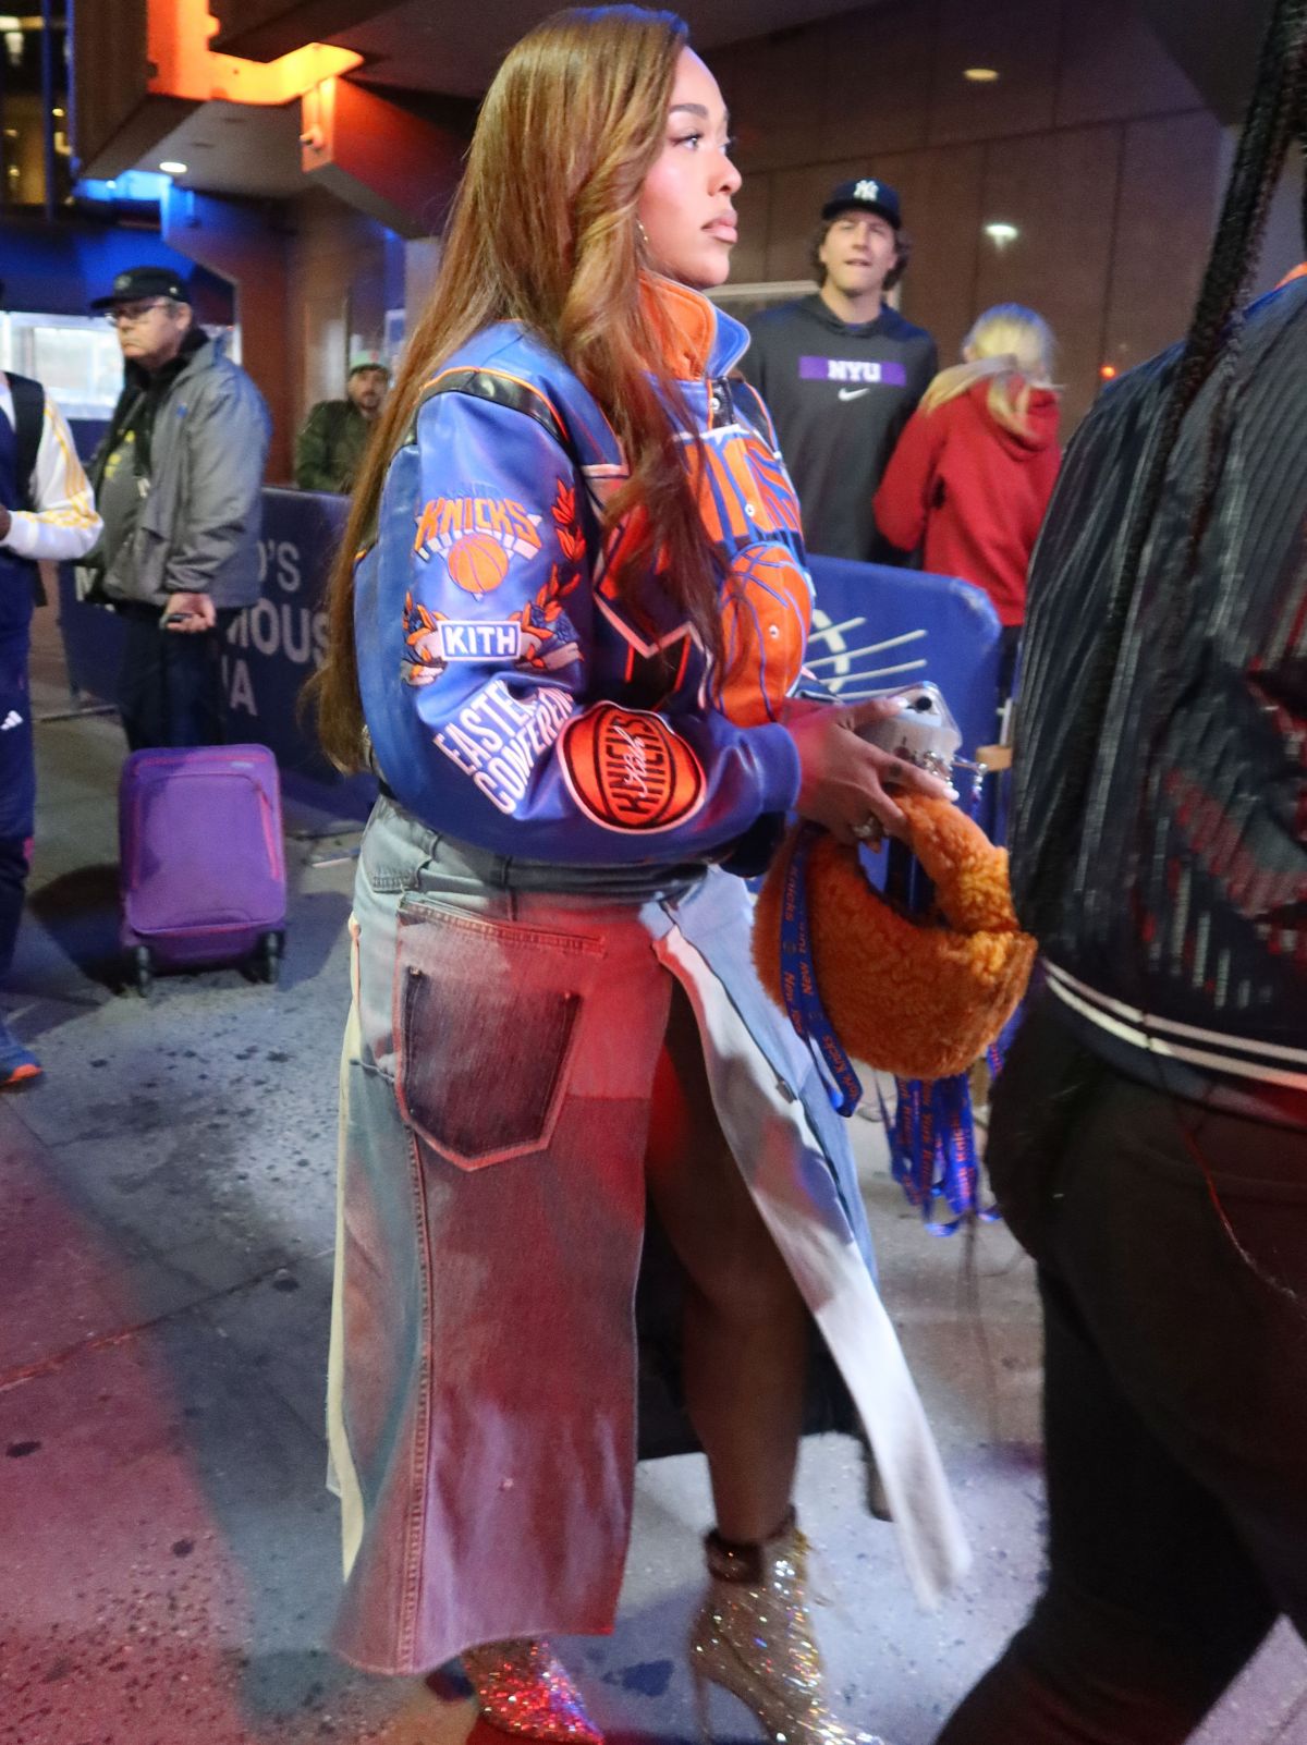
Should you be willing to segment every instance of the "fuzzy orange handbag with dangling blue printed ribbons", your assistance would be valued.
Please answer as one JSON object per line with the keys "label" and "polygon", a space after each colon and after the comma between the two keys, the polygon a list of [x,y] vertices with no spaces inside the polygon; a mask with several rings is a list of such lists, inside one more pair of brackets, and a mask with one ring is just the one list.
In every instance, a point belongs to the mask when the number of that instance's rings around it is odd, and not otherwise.
{"label": "fuzzy orange handbag with dangling blue printed ribbons", "polygon": [[[960,735],[948,705],[932,684],[900,695],[902,715],[867,736],[949,777]],[[968,1068],[988,1054],[996,1070],[1037,948],[1012,909],[1007,850],[946,799],[902,794],[899,806],[907,843],[886,850],[885,893],[855,848],[811,824],[792,831],[757,900],[754,960],[836,1110],[850,1115],[862,1096],[850,1056],[893,1075],[893,1115],[881,1103],[893,1178],[927,1228],[948,1235],[993,1216],[979,1195]],[[935,1218],[939,1201],[951,1218]]]}

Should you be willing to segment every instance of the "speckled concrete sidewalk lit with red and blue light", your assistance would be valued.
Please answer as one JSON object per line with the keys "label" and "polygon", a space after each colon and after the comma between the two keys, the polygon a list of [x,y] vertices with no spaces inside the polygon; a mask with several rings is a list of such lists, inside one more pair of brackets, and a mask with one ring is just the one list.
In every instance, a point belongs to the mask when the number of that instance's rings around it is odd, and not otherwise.
{"label": "speckled concrete sidewalk lit with red and blue light", "polygon": [[[457,1687],[440,1701],[321,1647],[339,1586],[323,1377],[356,838],[288,817],[279,988],[223,970],[162,977],[143,1002],[115,991],[117,728],[52,722],[38,752],[10,1003],[45,1078],[0,1099],[0,1742],[454,1745],[471,1722]],[[923,1616],[841,1441],[806,1447],[799,1508],[841,1705],[927,1745],[1035,1590],[1038,1319],[1007,1232],[981,1232],[968,1276],[961,1244],[927,1237],[886,1180],[879,1129],[853,1127],[974,1570]],[[693,1736],[682,1639],[707,1520],[701,1461],[644,1468],[616,1633],[562,1644],[619,1742]],[[1307,1745],[1304,1686],[1283,1632],[1204,1745]],[[757,1736],[724,1698],[715,1715],[719,1738]]]}

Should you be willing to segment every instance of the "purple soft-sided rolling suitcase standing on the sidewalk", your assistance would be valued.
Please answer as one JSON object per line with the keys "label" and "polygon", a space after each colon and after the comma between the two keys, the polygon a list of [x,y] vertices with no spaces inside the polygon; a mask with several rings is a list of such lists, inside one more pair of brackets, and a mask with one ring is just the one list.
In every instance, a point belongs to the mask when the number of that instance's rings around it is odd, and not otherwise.
{"label": "purple soft-sided rolling suitcase standing on the sidewalk", "polygon": [[155,967],[253,958],[277,979],[286,927],[281,784],[267,745],[133,752],[119,787],[120,939]]}

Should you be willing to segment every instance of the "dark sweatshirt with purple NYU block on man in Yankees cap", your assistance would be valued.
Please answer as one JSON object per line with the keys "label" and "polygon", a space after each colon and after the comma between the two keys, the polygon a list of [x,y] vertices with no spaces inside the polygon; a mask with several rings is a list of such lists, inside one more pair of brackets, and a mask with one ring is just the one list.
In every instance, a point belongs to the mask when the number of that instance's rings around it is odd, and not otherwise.
{"label": "dark sweatshirt with purple NYU block on man in Yankees cap", "polygon": [[740,370],[777,426],[810,551],[895,560],[876,537],[871,499],[937,368],[934,339],[897,309],[850,323],[804,297],[754,316]]}

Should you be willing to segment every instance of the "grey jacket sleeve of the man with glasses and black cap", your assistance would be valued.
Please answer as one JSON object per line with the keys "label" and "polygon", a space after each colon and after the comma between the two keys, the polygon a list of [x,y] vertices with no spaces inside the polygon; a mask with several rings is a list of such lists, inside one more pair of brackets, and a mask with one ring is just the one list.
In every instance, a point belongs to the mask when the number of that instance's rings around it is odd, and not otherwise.
{"label": "grey jacket sleeve of the man with glasses and black cap", "polygon": [[222,382],[187,415],[185,527],[168,553],[169,593],[208,593],[258,513],[269,417],[251,382]]}

